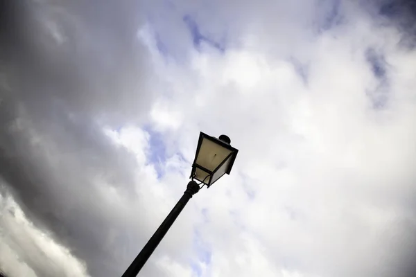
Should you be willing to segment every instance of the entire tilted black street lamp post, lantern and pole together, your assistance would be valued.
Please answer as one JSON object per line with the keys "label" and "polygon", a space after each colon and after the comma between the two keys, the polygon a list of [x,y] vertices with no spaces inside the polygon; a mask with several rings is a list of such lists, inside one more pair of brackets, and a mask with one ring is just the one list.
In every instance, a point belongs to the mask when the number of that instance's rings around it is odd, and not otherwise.
{"label": "entire tilted black street lamp post, lantern and pole together", "polygon": [[[206,185],[207,188],[209,188],[218,181],[220,177],[229,174],[237,153],[239,152],[239,150],[233,148],[230,143],[231,140],[228,136],[221,135],[216,139],[214,136],[208,136],[207,134],[200,132],[198,147],[196,148],[196,155],[192,165],[191,181],[189,181],[187,189],[184,191],[184,195],[182,195],[177,204],[173,207],[171,213],[169,213],[164,222],[160,224],[152,238],[150,238],[143,249],[141,249],[139,255],[137,255],[130,267],[128,267],[121,277],[137,276],[150,255],[155,251],[159,242],[164,235],[166,235],[169,228],[171,228],[173,222],[175,222],[184,206],[187,205],[189,199],[191,199],[194,194],[198,193],[202,186]],[[195,180],[200,183],[198,184]]]}

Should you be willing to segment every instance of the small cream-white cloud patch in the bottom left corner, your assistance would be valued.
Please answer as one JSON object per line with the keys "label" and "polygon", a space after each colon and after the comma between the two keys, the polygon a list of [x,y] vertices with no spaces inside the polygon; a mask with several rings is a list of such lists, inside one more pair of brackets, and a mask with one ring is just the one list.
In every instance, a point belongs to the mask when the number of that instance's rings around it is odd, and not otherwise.
{"label": "small cream-white cloud patch in the bottom left corner", "polygon": [[37,229],[6,193],[0,195],[1,269],[10,276],[89,276],[84,263],[51,234]]}

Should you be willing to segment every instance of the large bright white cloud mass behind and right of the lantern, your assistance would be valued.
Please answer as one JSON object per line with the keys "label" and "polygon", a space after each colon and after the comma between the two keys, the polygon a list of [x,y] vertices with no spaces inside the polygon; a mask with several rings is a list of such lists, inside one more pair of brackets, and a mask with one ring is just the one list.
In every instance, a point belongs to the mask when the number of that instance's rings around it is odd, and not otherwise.
{"label": "large bright white cloud mass behind and right of the lantern", "polygon": [[[233,247],[241,242],[241,226],[267,249],[275,267],[270,276],[284,270],[286,259],[295,260],[293,267],[306,276],[372,276],[387,270],[376,268],[382,260],[387,268],[395,264],[387,251],[399,232],[392,225],[410,220],[401,201],[415,188],[416,106],[409,66],[416,61],[413,51],[397,45],[397,30],[358,15],[349,15],[358,22],[340,33],[331,30],[297,46],[309,65],[307,84],[288,55],[263,51],[261,44],[273,43],[272,35],[251,41],[250,50],[241,45],[224,55],[194,52],[187,73],[169,71],[177,73],[172,91],[189,78],[192,87],[166,104],[173,117],[183,114],[166,141],[179,141],[191,157],[195,145],[189,134],[227,132],[240,149],[232,175],[247,176],[224,178],[196,200],[211,215],[200,227],[202,237],[213,256],[228,258],[222,263],[213,258],[218,272],[250,268],[230,261],[241,251]],[[377,86],[365,60],[370,47],[381,48],[389,61],[385,109],[373,109],[366,95]],[[233,197],[247,187],[254,200]],[[240,217],[234,219],[231,211]]]}

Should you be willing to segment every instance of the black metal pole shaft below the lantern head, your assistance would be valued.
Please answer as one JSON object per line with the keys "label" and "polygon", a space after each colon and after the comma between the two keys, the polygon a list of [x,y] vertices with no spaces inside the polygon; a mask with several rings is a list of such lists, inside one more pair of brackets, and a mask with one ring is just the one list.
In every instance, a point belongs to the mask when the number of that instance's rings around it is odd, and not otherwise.
{"label": "black metal pole shaft below the lantern head", "polygon": [[173,207],[171,213],[168,214],[164,222],[160,224],[159,228],[155,231],[152,238],[146,243],[146,245],[141,249],[139,255],[133,260],[132,264],[128,269],[124,272],[121,277],[135,277],[139,274],[141,267],[144,266],[150,255],[152,255],[153,251],[155,251],[157,245],[162,240],[164,235],[168,232],[169,228],[171,228],[173,222],[175,222],[177,216],[183,210],[184,206],[187,205],[189,199],[196,193],[200,187],[196,183],[196,181],[190,181],[187,190],[185,190],[184,195],[179,199],[175,207]]}

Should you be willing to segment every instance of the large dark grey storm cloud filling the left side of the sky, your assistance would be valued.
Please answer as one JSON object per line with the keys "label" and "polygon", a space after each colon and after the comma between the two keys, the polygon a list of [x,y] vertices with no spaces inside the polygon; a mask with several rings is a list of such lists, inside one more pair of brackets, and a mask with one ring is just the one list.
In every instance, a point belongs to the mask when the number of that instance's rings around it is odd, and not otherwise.
{"label": "large dark grey storm cloud filling the left side of the sky", "polygon": [[[132,252],[109,249],[110,232],[121,249],[133,234],[127,215],[101,203],[94,180],[127,199],[134,184],[135,160],[101,126],[138,122],[152,98],[137,39],[141,6],[5,0],[0,10],[0,177],[92,276],[118,276]],[[27,262],[39,276],[56,274],[30,253]]]}

